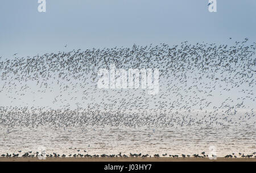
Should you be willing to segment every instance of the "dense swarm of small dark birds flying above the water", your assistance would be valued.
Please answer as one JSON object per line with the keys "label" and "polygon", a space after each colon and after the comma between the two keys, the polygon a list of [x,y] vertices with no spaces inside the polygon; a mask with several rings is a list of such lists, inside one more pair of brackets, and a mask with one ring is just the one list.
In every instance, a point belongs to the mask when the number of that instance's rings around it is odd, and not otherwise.
{"label": "dense swarm of small dark birds flying above the water", "polygon": [[[231,46],[184,41],[172,47],[133,45],[1,58],[0,94],[6,97],[1,103],[7,105],[0,107],[0,125],[255,128],[256,44],[248,40]],[[110,69],[110,64],[159,69],[159,93],[99,89],[98,70]],[[41,104],[43,99],[52,106]]]}

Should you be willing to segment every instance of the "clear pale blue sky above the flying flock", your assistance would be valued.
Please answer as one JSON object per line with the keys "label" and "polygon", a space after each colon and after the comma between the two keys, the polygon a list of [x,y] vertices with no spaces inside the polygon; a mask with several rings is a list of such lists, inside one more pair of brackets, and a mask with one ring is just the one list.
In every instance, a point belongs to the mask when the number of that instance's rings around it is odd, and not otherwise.
{"label": "clear pale blue sky above the flying flock", "polygon": [[37,0],[2,0],[0,56],[186,40],[256,40],[256,1],[217,0],[217,12],[209,12],[207,4],[208,0],[46,0],[46,12],[40,13]]}

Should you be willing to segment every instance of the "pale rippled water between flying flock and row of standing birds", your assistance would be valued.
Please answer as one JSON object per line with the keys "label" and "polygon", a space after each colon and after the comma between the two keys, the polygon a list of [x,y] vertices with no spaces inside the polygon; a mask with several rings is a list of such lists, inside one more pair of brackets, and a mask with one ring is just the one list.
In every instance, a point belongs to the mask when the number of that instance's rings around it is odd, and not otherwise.
{"label": "pale rippled water between flying flock and row of standing birds", "polygon": [[[217,156],[256,151],[254,125],[229,127],[171,128],[1,128],[0,153],[18,150],[36,152],[44,146],[46,153],[59,154],[200,154],[214,146]],[[71,149],[72,148],[72,149]],[[80,151],[78,152],[77,150]],[[85,153],[85,154],[86,154]]]}

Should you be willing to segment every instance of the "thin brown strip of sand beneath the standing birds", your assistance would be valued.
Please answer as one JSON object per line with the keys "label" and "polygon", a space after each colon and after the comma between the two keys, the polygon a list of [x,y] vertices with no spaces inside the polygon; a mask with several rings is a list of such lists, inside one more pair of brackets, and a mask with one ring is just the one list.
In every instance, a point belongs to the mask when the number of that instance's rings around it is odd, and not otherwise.
{"label": "thin brown strip of sand beneath the standing birds", "polygon": [[0,162],[256,162],[256,158],[0,158]]}

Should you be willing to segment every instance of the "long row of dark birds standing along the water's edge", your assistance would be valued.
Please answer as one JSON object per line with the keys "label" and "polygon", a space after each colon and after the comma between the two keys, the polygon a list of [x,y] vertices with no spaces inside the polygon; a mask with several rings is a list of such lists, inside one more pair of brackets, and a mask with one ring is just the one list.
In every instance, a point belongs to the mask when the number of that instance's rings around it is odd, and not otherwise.
{"label": "long row of dark birds standing along the water's edge", "polygon": [[[18,151],[19,153],[21,153],[22,151]],[[85,151],[86,152],[86,151]],[[98,155],[98,154],[94,154],[94,155],[90,155],[90,154],[69,154],[69,155],[66,155],[66,154],[57,154],[57,153],[52,153],[52,154],[41,154],[39,153],[38,151],[36,151],[36,153],[32,154],[32,151],[28,151],[26,153],[24,153],[23,155],[19,155],[18,154],[2,154],[1,157],[13,157],[13,158],[17,158],[17,157],[23,157],[23,158],[34,158],[34,157],[46,157],[46,158],[65,158],[65,157],[73,157],[73,158],[82,158],[82,157],[85,157],[85,158],[117,158],[117,157],[123,157],[123,158],[127,158],[127,157],[131,157],[131,158],[151,158],[151,155],[149,154],[132,154],[130,153],[130,155],[126,155],[126,154],[122,154],[121,152],[119,154],[101,154],[101,155]],[[242,154],[242,153],[238,153],[240,158],[256,158],[256,152],[252,153],[252,154]],[[167,153],[166,154],[162,154],[163,157],[168,157]],[[154,158],[159,158],[160,155],[159,154],[154,154]],[[175,154],[175,155],[172,155],[172,154],[169,154],[169,157],[170,158],[179,158],[179,155]],[[203,151],[200,155],[199,154],[193,154],[193,155],[185,155],[185,154],[181,154],[181,157],[182,158],[208,158],[208,157],[217,157],[216,155],[208,155],[208,154],[205,154],[205,151]],[[238,158],[235,153],[232,153],[232,154],[228,154],[228,155],[225,155],[224,158]]]}

